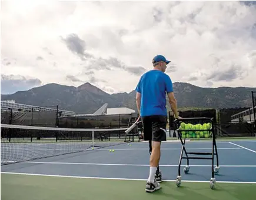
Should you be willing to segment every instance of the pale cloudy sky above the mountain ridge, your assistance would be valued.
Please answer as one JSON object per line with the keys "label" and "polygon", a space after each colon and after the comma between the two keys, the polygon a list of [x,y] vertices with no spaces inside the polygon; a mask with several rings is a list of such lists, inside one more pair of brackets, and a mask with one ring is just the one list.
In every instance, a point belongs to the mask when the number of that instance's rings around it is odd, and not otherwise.
{"label": "pale cloudy sky above the mountain ridge", "polygon": [[256,4],[1,1],[1,94],[86,82],[131,92],[158,54],[172,82],[256,87]]}

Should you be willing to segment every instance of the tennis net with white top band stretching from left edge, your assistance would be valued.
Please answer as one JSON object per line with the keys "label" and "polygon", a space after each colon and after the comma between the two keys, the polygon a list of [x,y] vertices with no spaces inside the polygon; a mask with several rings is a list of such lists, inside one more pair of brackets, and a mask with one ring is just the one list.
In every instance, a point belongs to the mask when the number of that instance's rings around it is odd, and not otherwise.
{"label": "tennis net with white top band stretching from left edge", "polygon": [[125,130],[1,124],[1,165],[125,143]]}

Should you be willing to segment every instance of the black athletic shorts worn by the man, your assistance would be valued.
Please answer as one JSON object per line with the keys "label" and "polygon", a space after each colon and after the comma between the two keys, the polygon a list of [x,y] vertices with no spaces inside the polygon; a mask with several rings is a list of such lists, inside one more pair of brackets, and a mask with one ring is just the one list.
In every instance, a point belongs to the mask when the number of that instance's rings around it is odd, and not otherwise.
{"label": "black athletic shorts worn by the man", "polygon": [[167,116],[151,115],[142,117],[144,141],[166,141]]}

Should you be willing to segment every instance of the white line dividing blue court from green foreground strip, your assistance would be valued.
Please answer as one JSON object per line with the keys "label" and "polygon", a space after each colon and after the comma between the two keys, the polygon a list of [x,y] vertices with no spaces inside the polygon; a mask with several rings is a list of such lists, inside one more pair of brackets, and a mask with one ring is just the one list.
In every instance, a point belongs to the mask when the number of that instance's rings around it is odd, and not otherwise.
{"label": "white line dividing blue court from green foreground strip", "polygon": [[[49,175],[49,174],[29,174],[29,173],[18,173],[18,172],[1,172],[1,174],[15,174],[15,175],[31,175],[31,176],[50,176],[50,177],[61,177],[61,178],[87,178],[87,179],[108,179],[108,180],[123,180],[123,181],[147,181],[148,179],[135,179],[135,178],[107,178],[107,177],[90,177],[90,176],[65,176],[65,175]],[[165,182],[176,182],[176,180],[166,180]],[[187,181],[182,182],[206,182],[209,181]],[[217,181],[222,184],[256,184],[256,182],[241,182],[241,181]]]}

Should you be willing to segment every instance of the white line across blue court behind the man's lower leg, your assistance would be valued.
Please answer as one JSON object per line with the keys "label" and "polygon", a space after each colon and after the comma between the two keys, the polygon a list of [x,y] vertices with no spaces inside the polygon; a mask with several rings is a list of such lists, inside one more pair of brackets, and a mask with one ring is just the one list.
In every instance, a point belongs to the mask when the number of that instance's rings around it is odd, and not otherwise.
{"label": "white line across blue court behind the man's lower leg", "polygon": [[[2,162],[15,162],[15,161],[2,161]],[[106,164],[106,163],[87,163],[87,162],[36,162],[36,161],[24,161],[20,163],[29,164],[47,164],[47,165],[107,165],[107,166],[149,166],[141,164]],[[159,166],[179,166],[179,165],[159,165]],[[187,166],[187,165],[181,165]],[[211,167],[211,165],[189,165],[195,167]],[[256,165],[219,165],[220,167],[256,167]]]}

